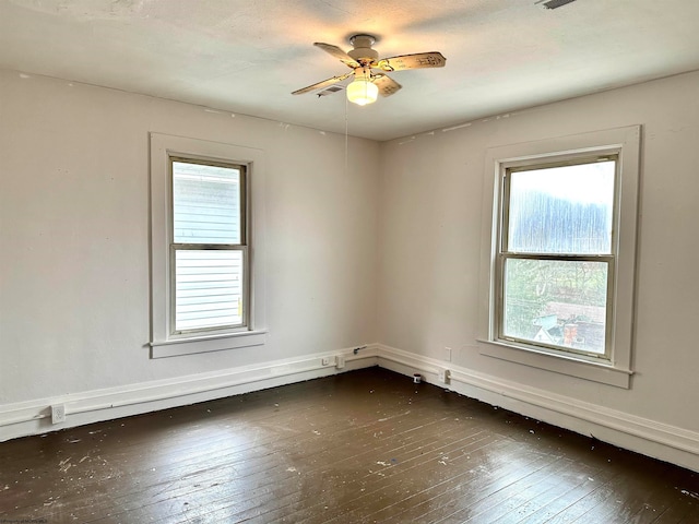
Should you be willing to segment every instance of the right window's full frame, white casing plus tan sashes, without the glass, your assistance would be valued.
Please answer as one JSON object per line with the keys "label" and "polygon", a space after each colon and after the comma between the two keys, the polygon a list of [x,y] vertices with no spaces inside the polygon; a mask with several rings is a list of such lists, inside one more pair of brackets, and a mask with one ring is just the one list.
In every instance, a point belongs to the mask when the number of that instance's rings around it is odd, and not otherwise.
{"label": "right window's full frame, white casing plus tan sashes, without the glass", "polygon": [[[478,347],[484,356],[592,380],[630,386],[635,315],[635,267],[640,168],[640,126],[493,147],[486,154],[482,231]],[[505,175],[542,166],[616,156],[614,260],[607,281],[605,356],[552,349],[500,336],[503,314],[501,258]],[[616,252],[615,252],[616,251]],[[529,258],[526,253],[524,258]],[[538,258],[538,257],[534,257]],[[591,260],[595,260],[593,257]]]}

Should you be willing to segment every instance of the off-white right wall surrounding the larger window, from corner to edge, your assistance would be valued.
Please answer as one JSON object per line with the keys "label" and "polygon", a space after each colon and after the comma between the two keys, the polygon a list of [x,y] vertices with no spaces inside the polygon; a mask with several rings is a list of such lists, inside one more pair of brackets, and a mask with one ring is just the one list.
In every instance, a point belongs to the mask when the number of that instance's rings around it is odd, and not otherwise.
{"label": "off-white right wall surrounding the larger window, from corner to edge", "polygon": [[[512,391],[534,388],[572,404],[627,414],[648,428],[673,428],[699,452],[697,93],[699,73],[692,73],[386,143],[379,340],[437,360],[445,360],[445,347],[451,347],[452,366]],[[643,138],[631,389],[481,355],[476,331],[486,150],[638,123]],[[553,421],[560,422],[555,416]],[[630,437],[620,440],[633,448]],[[699,465],[699,456],[692,460]]]}

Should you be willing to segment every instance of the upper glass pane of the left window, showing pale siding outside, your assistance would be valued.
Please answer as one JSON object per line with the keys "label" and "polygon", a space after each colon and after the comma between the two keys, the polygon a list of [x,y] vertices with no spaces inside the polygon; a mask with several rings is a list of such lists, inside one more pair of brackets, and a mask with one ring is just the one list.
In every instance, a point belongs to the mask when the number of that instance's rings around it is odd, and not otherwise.
{"label": "upper glass pane of the left window, showing pale siding outside", "polygon": [[241,243],[240,171],[173,162],[176,243]]}

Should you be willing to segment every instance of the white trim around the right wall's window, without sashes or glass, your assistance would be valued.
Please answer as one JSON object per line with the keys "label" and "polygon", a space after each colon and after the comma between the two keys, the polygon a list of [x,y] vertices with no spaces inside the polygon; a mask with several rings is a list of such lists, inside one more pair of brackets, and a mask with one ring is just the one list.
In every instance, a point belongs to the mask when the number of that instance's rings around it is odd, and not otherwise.
{"label": "white trim around the right wall's window, without sashes or glass", "polygon": [[[638,223],[641,127],[595,131],[569,136],[493,147],[485,159],[483,228],[481,240],[481,288],[478,293],[478,347],[482,355],[531,366],[585,380],[630,388],[635,270]],[[528,159],[557,159],[565,156],[618,152],[620,202],[618,207],[618,252],[614,285],[613,350],[609,360],[595,361],[573,354],[552,354],[524,344],[497,340],[495,325],[495,261],[502,169]]]}

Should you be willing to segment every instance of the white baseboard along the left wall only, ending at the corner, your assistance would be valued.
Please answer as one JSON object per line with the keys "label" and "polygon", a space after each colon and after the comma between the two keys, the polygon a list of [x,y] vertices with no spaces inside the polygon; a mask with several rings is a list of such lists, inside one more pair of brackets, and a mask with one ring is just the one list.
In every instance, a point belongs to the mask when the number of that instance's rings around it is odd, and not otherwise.
{"label": "white baseboard along the left wall only, ending at the corner", "polygon": [[[328,364],[323,365],[323,358]],[[337,359],[342,358],[342,367]],[[377,365],[377,346],[364,346],[214,373],[178,377],[121,388],[38,398],[0,406],[0,442],[142,413],[185,406],[250,391],[301,382]],[[62,404],[66,421],[51,422],[51,406]]]}

